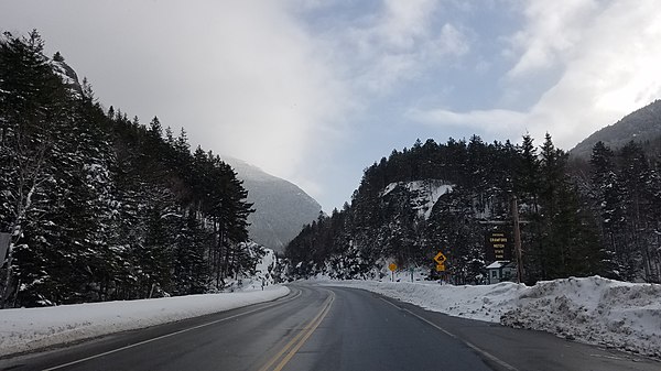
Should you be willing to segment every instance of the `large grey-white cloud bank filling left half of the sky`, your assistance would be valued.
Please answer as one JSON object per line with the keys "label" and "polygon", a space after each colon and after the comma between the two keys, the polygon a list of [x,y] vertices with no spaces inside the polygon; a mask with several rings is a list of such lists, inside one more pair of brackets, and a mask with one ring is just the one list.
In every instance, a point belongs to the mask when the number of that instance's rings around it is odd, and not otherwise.
{"label": "large grey-white cloud bank filling left half of the sky", "polygon": [[[21,1],[3,29],[41,31],[105,105],[185,127],[193,145],[305,179],[350,96],[275,1]],[[83,17],[80,14],[84,14]],[[333,122],[330,122],[333,120]],[[312,184],[312,183],[311,183]]]}

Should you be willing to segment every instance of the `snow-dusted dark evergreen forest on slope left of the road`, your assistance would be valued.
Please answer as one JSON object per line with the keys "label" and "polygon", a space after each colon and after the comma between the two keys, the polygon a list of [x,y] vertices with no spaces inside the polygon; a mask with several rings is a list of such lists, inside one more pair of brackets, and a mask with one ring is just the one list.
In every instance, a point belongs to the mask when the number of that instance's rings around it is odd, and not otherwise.
{"label": "snow-dusted dark evergreen forest on slope left of the road", "polygon": [[253,266],[234,170],[67,72],[36,32],[0,39],[2,305],[203,293]]}

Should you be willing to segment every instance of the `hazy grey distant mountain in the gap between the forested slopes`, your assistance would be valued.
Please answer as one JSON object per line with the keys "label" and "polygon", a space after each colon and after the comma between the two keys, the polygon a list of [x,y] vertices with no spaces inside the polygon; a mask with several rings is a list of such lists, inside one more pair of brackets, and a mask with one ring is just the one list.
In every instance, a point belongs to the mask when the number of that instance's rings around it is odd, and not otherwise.
{"label": "hazy grey distant mountain in the gap between the forested slopes", "polygon": [[270,175],[257,166],[223,156],[243,181],[248,201],[254,204],[248,217],[250,238],[275,251],[282,251],[303,228],[315,220],[322,206],[295,184]]}

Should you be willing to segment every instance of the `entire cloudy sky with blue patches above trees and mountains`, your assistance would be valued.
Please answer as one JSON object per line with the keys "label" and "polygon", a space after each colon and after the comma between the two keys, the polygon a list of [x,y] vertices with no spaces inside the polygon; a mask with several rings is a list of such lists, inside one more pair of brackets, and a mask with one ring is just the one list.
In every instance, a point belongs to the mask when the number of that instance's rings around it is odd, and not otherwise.
{"label": "entire cloudy sky with blue patches above trees and mountains", "polygon": [[661,97],[658,0],[0,0],[0,29],[326,211],[419,138],[570,150]]}

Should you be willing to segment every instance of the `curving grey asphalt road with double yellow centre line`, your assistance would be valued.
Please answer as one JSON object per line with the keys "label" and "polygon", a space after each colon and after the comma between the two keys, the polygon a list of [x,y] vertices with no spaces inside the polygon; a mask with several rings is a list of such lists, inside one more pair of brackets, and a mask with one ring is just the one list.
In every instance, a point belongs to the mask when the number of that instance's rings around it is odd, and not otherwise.
{"label": "curving grey asphalt road with double yellow centre line", "polygon": [[0,359],[0,369],[661,370],[646,358],[360,290],[290,287],[272,303]]}

